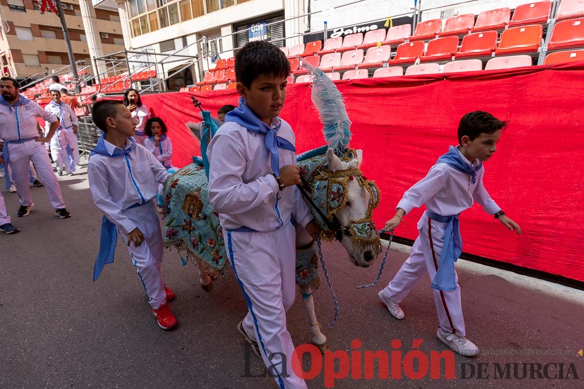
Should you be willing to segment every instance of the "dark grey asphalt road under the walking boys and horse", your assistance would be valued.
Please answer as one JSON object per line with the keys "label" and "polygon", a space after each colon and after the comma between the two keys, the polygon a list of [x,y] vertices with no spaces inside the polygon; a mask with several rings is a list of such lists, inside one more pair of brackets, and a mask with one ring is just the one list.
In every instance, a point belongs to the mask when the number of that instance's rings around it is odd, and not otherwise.
{"label": "dark grey asphalt road under the walking boys and horse", "polygon": [[[178,328],[168,332],[155,323],[121,242],[114,264],[92,282],[101,215],[86,178],[85,169],[73,177],[59,177],[73,214],[65,220],[54,216],[44,188],[32,189],[36,206],[25,218],[16,218],[17,195],[2,190],[21,232],[0,236],[0,388],[276,388],[272,379],[261,376],[260,359],[249,353],[246,358],[245,344],[235,330],[246,307],[231,272],[215,282],[212,293],[206,293],[198,285],[196,268],[182,267],[175,251],[165,251],[163,275],[177,295],[172,310],[179,320]],[[0,185],[4,188],[3,179]],[[324,279],[315,304],[333,351],[350,353],[351,341],[359,339],[361,355],[397,350],[404,360],[401,379],[378,379],[376,366],[376,379],[356,374],[356,379],[334,380],[335,388],[584,387],[584,358],[576,355],[584,348],[584,292],[458,261],[468,338],[479,346],[481,355],[456,356],[449,370],[454,379],[430,379],[430,373],[412,379],[407,367],[412,363],[406,360],[412,360],[407,355],[413,339],[423,339],[419,349],[430,361],[432,351],[446,348],[435,336],[436,309],[427,278],[402,303],[405,320],[395,320],[378,303],[378,290],[397,272],[409,248],[392,245],[378,286],[357,290],[358,285],[373,281],[381,257],[373,267],[361,269],[350,264],[340,246],[323,247],[340,304],[333,330],[326,328],[333,304]],[[300,296],[287,321],[295,344],[307,342]],[[402,342],[401,348],[392,348],[393,339]],[[514,378],[513,365],[508,367],[511,378],[493,378],[496,363],[501,368],[505,363],[539,363],[541,369],[552,363],[548,376],[567,374],[569,379],[538,379],[537,372],[530,379],[537,365],[527,365],[527,379]],[[305,358],[304,369],[310,366]],[[335,366],[340,368],[338,361]],[[519,377],[523,366],[517,365]],[[474,376],[461,378],[463,373],[470,376],[472,369]],[[325,386],[324,370],[308,381],[309,388]],[[396,372],[399,369],[392,370]],[[477,378],[486,375],[489,378]],[[326,377],[331,379],[332,373]]]}

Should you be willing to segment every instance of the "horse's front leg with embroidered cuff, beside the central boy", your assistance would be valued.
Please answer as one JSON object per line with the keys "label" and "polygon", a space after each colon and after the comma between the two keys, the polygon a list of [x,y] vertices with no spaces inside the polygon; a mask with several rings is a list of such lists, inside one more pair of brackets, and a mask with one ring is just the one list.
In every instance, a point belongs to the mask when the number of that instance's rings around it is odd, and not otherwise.
{"label": "horse's front leg with embroidered cuff, beside the central boy", "polygon": [[[317,264],[312,263],[312,261],[314,261],[314,255],[315,255],[314,241],[303,227],[296,226],[297,269],[300,266],[301,269],[312,268],[317,269],[318,272],[318,263]],[[313,282],[318,282],[318,274],[316,276],[317,279],[315,279]],[[317,285],[316,288],[318,288],[318,283],[316,283],[315,285]],[[304,308],[306,309],[306,313],[308,316],[308,328],[311,334],[310,342],[313,345],[317,346],[322,353],[324,353],[329,348],[326,342],[326,337],[321,332],[321,326],[320,324],[318,324],[317,314],[314,311],[314,299],[312,297],[312,292],[314,290],[310,286],[308,287],[304,286],[304,288],[300,284],[299,286],[301,286],[302,297],[304,300]]]}

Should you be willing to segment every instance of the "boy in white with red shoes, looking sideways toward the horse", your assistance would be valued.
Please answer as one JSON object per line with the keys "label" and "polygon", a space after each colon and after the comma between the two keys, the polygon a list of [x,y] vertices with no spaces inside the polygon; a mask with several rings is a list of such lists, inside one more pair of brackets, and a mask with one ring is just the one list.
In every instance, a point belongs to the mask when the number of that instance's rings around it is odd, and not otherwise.
{"label": "boy in white with red shoes, looking sideways toward the horse", "polygon": [[170,173],[151,152],[134,141],[136,123],[121,101],[98,101],[93,106],[92,118],[104,132],[91,150],[88,163],[89,190],[104,215],[93,281],[105,264],[113,262],[119,232],[138,268],[158,326],[170,330],[178,322],[166,302],[175,295],[162,281],[164,246],[160,221],[151,201],[157,195],[157,183],[164,183]]}

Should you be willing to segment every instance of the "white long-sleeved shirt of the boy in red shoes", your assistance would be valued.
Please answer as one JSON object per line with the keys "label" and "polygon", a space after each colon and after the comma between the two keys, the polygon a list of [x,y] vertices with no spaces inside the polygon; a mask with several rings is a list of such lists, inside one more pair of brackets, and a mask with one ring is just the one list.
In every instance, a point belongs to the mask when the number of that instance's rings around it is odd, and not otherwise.
{"label": "white long-sleeved shirt of the boy in red shoes", "polygon": [[[105,140],[104,143],[107,152],[113,155],[117,147]],[[130,145],[127,140],[125,148]],[[124,233],[130,233],[137,226],[124,215],[124,210],[156,198],[157,183],[164,183],[170,173],[151,152],[137,143],[129,158],[92,155],[87,175],[95,205],[110,222]]]}

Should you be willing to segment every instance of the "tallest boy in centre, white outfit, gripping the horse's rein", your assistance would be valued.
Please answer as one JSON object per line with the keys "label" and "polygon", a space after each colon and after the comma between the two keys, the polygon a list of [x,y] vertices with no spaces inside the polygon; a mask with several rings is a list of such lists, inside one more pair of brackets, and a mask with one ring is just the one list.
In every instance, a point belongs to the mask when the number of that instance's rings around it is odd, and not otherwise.
{"label": "tallest boy in centre, white outfit, gripping the horse's rein", "polygon": [[[209,199],[248,314],[237,330],[261,355],[280,388],[306,388],[294,374],[286,311],[296,293],[296,229],[318,227],[295,187],[300,184],[294,132],[279,117],[290,63],[266,41],[235,57],[239,106],[209,143]],[[285,356],[285,360],[282,356]]]}

